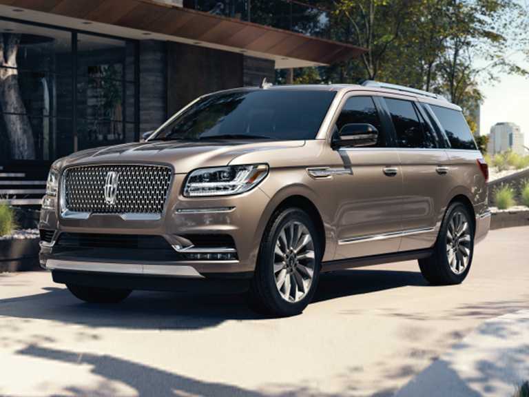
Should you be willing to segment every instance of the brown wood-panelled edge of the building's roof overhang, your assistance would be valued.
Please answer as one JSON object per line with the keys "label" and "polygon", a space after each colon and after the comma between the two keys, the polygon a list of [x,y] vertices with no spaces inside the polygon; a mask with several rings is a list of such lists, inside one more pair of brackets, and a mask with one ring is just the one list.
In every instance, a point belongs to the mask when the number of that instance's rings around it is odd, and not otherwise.
{"label": "brown wood-panelled edge of the building's roof overhang", "polygon": [[348,43],[153,0],[0,0],[0,4],[318,64],[346,61],[365,52]]}

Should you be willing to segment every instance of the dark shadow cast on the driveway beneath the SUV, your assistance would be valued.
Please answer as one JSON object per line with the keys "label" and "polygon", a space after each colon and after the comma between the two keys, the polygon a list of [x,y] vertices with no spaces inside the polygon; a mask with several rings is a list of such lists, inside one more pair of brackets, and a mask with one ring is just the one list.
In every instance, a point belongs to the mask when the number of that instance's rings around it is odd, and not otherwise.
{"label": "dark shadow cast on the driveway beneath the SUV", "polygon": [[[426,285],[426,282],[415,272],[344,270],[322,274],[314,301],[405,285]],[[225,320],[266,318],[252,312],[241,294],[136,291],[118,305],[96,305],[79,301],[59,285],[42,291],[41,294],[0,299],[0,316],[124,329],[203,329]]]}

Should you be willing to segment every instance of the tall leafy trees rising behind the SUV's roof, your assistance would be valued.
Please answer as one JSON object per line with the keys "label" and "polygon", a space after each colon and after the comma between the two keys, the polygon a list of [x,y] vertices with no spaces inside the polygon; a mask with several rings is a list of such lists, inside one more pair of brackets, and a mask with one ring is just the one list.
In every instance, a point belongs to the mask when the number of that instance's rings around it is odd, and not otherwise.
{"label": "tall leafy trees rising behind the SUV's roof", "polygon": [[[497,81],[501,73],[529,74],[513,61],[516,57],[510,57],[529,48],[527,10],[517,0],[311,3],[330,12],[321,11],[320,18],[315,18],[320,23],[310,29],[301,30],[295,23],[296,30],[324,34],[327,39],[367,50],[360,58],[313,69],[312,81],[358,83],[376,79],[408,85],[443,94],[461,105],[471,120],[470,114],[483,101],[480,84]],[[307,11],[299,13],[299,18],[306,16]],[[482,143],[478,142],[479,147],[486,150]]]}

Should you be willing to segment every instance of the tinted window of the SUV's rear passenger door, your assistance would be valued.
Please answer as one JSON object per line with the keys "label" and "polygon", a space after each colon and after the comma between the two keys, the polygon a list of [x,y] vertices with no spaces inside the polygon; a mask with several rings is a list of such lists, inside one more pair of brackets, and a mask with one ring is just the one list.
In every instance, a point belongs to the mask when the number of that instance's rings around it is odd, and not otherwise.
{"label": "tinted window of the SUV's rear passenger door", "polygon": [[391,114],[399,147],[437,147],[433,132],[411,101],[384,98]]}

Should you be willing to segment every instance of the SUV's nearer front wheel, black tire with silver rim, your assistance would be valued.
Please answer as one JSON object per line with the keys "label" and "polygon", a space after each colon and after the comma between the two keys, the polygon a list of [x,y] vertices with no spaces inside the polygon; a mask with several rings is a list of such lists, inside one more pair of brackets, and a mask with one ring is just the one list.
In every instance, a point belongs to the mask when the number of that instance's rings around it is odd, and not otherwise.
{"label": "SUV's nearer front wheel, black tire with silver rim", "polygon": [[276,212],[261,241],[249,289],[251,308],[280,317],[303,312],[318,286],[321,251],[318,232],[307,212],[299,208]]}

